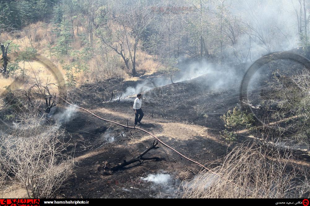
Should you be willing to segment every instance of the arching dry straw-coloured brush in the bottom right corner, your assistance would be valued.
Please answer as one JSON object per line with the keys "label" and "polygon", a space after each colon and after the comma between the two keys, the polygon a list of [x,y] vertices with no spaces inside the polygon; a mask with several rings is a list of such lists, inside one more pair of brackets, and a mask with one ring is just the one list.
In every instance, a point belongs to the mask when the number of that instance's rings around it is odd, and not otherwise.
{"label": "arching dry straw-coloured brush in the bottom right corner", "polygon": [[291,152],[241,145],[223,164],[184,180],[183,198],[302,198],[310,191],[308,169],[295,164]]}

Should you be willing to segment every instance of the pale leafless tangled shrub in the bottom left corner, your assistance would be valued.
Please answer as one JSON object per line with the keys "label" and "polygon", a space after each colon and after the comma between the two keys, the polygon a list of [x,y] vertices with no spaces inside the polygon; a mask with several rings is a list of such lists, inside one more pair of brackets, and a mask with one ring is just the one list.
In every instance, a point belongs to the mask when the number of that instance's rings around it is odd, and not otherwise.
{"label": "pale leafless tangled shrub in the bottom left corner", "polygon": [[[73,159],[64,154],[63,131],[44,118],[25,118],[1,134],[1,172],[26,189],[29,198],[49,198],[73,172]],[[8,177],[8,176],[6,176]]]}

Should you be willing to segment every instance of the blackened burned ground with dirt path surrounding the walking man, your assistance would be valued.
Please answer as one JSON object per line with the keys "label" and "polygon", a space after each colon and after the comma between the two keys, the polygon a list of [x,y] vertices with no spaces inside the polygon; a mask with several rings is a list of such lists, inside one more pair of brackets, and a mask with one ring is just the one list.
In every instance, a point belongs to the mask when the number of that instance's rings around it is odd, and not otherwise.
{"label": "blackened burned ground with dirt path surrounding the walking man", "polygon": [[[212,67],[199,74],[195,67],[187,69],[188,64],[179,65],[181,71],[173,77],[175,83],[165,75],[154,73],[137,81],[115,79],[85,84],[71,89],[67,99],[102,118],[123,125],[128,121],[128,125],[133,126],[132,104],[135,93],[141,92],[144,124],[139,127],[194,161],[201,164],[220,162],[233,146],[228,145],[219,133],[224,129],[220,116],[235,106],[240,107],[240,84],[248,65]],[[268,95],[272,72],[282,69],[294,73],[300,68],[302,66],[296,62],[279,60],[259,70],[248,92],[255,114],[262,117],[266,112],[259,106],[261,97]],[[198,76],[191,78],[191,72]],[[204,107],[200,114],[194,108],[199,105]],[[153,137],[105,122],[65,102],[53,108],[48,118],[64,128],[63,140],[71,144],[66,152],[74,155],[76,161],[74,175],[55,193],[55,197],[172,198],[177,196],[183,179],[193,179],[201,170],[198,165],[159,144],[158,149],[145,155],[158,157],[158,161],[145,160],[116,172],[106,171],[105,166],[130,160],[152,146]],[[254,140],[248,130],[240,131],[240,135],[241,141]],[[304,148],[296,149],[294,158],[302,165],[310,162],[309,152]]]}

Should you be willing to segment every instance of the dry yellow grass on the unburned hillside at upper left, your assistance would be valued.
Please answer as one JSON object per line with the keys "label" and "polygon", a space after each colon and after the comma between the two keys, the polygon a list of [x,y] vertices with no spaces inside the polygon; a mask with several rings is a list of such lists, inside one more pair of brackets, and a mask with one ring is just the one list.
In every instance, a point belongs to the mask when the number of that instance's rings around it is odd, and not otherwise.
{"label": "dry yellow grass on the unburned hillside at upper left", "polygon": [[[23,50],[26,47],[34,47],[37,49],[38,54],[51,58],[51,62],[56,64],[56,67],[58,67],[58,72],[63,79],[65,79],[65,71],[62,69],[62,66],[65,64],[71,63],[70,61],[72,59],[65,58],[64,62],[60,64],[58,62],[58,59],[55,58],[55,56],[51,56],[49,50],[47,49],[47,44],[53,39],[51,36],[51,24],[44,24],[43,22],[37,22],[36,24],[30,24],[27,26],[23,31],[15,32],[15,33],[3,33],[2,38],[4,37],[5,40],[11,40],[13,43],[18,44],[20,46],[20,50]],[[82,27],[79,27],[79,33],[83,32]],[[117,25],[115,25],[115,29],[117,29]],[[77,34],[77,28],[74,28],[75,34]],[[74,50],[82,50],[82,41],[79,36],[75,35],[75,40],[72,44]],[[95,37],[96,38],[96,37]],[[54,38],[55,40],[55,38]],[[129,40],[131,43],[134,43],[133,39]],[[139,44],[140,46],[140,44]],[[126,48],[125,48],[126,49]],[[128,53],[128,51],[127,51]],[[115,56],[117,58],[116,61],[113,59],[115,63],[113,66],[113,72],[116,72],[114,77],[117,78],[123,78],[124,80],[129,81],[136,81],[139,78],[138,77],[132,77],[131,76],[131,69],[128,71],[125,67],[125,64],[123,62],[123,59],[117,55],[114,51],[108,52],[108,57],[113,58]],[[11,62],[14,62],[16,59],[15,54],[10,54]],[[97,60],[95,60],[97,59]],[[101,64],[95,64],[94,62],[98,59],[102,59],[102,56],[95,55],[93,59],[91,59],[89,64],[89,70],[84,73],[81,72],[76,75],[77,80],[77,86],[80,86],[82,84],[85,84],[86,82],[96,82],[98,80],[104,80],[106,79],[106,75],[102,75],[104,73],[104,67],[106,66],[106,62],[101,62]],[[157,71],[157,68],[160,67],[160,63],[155,60],[156,58],[152,55],[147,54],[146,52],[138,49],[136,52],[136,71],[139,74],[144,75],[150,75]],[[57,65],[58,64],[58,65]],[[23,67],[22,63],[19,64],[20,67]],[[130,68],[131,68],[131,62],[130,62]],[[41,82],[52,82],[56,83],[57,79],[54,78],[55,74],[48,72],[48,69],[40,62],[38,61],[32,61],[32,62],[26,62],[25,63],[25,69],[27,70],[28,79],[27,81],[34,81],[35,78],[39,79]],[[17,76],[20,76],[21,71],[16,71]],[[101,75],[101,76],[100,76]],[[103,76],[103,77],[102,77]],[[10,81],[5,80],[0,83],[1,85],[7,86],[10,84]],[[1,87],[0,85],[0,87]],[[3,92],[3,86],[0,88],[0,92]]]}

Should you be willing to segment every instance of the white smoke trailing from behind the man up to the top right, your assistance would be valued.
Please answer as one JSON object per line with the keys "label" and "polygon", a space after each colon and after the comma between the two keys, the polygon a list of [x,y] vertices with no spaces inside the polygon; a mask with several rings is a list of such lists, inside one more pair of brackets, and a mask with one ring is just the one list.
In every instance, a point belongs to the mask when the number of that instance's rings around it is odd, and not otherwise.
{"label": "white smoke trailing from behind the man up to the top right", "polygon": [[[215,11],[217,6],[220,6],[217,4],[221,4],[221,2],[212,1],[207,6],[210,10]],[[208,2],[206,3],[208,4]],[[229,67],[232,67],[232,62],[235,65],[247,62],[251,64],[270,52],[287,51],[299,46],[296,14],[300,8],[299,1],[227,0],[224,1],[224,6],[231,12],[232,17],[236,18],[235,21],[240,26],[235,30],[235,32],[241,32],[240,36],[237,36],[236,44],[224,47],[225,59],[220,67],[204,62],[191,63],[186,66],[187,68],[184,68],[183,64],[186,64],[186,62],[183,63],[182,58],[184,57],[180,56],[179,68],[183,67],[185,72],[182,70],[179,74],[173,76],[174,83],[206,75],[206,84],[210,85],[210,89],[230,89],[231,87],[238,89],[245,71],[238,70],[237,67],[229,69]],[[309,16],[308,12],[307,16]],[[236,33],[236,35],[239,34]],[[206,36],[205,38],[205,41],[208,41],[207,38],[209,37]],[[219,41],[212,38],[210,41],[209,44],[219,46]],[[229,40],[227,41],[229,42]],[[218,55],[216,52],[214,54]],[[235,54],[237,57],[235,57]],[[121,98],[167,84],[171,84],[170,77],[145,80],[135,87],[126,88]]]}

